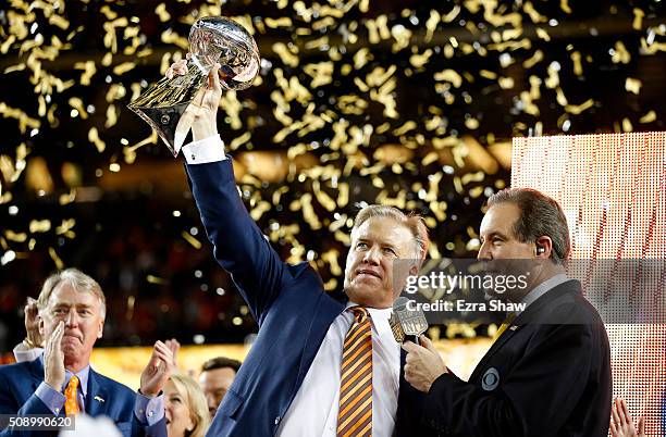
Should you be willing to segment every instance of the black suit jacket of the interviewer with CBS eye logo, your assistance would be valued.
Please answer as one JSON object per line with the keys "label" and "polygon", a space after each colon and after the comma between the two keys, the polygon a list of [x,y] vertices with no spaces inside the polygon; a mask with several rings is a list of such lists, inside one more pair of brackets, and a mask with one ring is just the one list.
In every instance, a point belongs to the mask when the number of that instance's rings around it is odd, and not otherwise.
{"label": "black suit jacket of the interviewer with CBS eye logo", "polygon": [[436,436],[606,437],[612,397],[606,329],[567,280],[516,317],[469,383],[437,378],[422,420]]}

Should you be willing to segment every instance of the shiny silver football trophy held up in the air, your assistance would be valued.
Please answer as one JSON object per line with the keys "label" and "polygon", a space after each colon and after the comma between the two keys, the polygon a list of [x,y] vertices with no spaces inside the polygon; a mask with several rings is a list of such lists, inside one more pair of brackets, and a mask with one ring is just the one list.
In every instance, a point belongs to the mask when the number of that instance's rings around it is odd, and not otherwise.
{"label": "shiny silver football trophy held up in the air", "polygon": [[185,75],[163,77],[128,108],[144,118],[177,157],[192,127],[193,117],[183,117],[187,107],[207,83],[215,62],[229,72],[220,79],[222,89],[240,90],[252,85],[259,72],[259,50],[251,35],[239,24],[221,16],[207,16],[189,30],[190,62]]}

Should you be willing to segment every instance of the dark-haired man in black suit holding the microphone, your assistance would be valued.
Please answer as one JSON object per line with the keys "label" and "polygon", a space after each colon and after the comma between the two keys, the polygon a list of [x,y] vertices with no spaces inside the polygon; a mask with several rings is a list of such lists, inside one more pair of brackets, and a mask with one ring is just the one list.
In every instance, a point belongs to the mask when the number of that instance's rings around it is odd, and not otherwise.
{"label": "dark-haired man in black suit holding the microphone", "polygon": [[[526,267],[525,303],[502,325],[469,382],[455,376],[421,336],[407,342],[405,378],[425,394],[422,423],[442,436],[606,437],[612,383],[608,338],[580,283],[565,275],[569,230],[557,202],[531,189],[488,201],[479,260]],[[529,272],[529,273],[528,273]]]}

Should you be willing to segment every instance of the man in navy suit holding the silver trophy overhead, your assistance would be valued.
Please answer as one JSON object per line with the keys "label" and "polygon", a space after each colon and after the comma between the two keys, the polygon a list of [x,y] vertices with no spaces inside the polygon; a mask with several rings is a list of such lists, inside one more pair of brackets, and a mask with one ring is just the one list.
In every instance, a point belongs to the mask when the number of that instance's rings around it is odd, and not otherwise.
{"label": "man in navy suit holding the silver trophy overhead", "polygon": [[[183,74],[185,65],[174,64],[168,75]],[[208,435],[418,435],[405,408],[416,404],[418,392],[403,379],[400,347],[387,320],[425,254],[422,220],[390,207],[361,210],[351,230],[346,296],[326,294],[308,263],[280,259],[238,197],[217,133],[220,97],[215,67],[193,104],[194,141],[183,151],[214,257],[232,274],[259,334]],[[398,259],[410,261],[394,269]]]}

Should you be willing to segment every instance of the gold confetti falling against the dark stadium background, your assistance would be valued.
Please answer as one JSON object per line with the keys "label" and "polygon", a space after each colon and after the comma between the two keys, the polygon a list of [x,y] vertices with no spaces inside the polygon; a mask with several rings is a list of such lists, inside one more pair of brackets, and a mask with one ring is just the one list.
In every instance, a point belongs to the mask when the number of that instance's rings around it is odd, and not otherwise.
{"label": "gold confetti falling against the dark stadium background", "polygon": [[[107,191],[187,191],[126,104],[184,58],[205,15],[259,45],[260,76],[224,95],[219,122],[243,198],[285,259],[340,288],[351,217],[371,202],[420,211],[432,257],[469,254],[511,136],[664,129],[666,20],[658,1],[631,4],[12,0],[0,10],[0,236],[17,255],[0,270],[30,253],[75,263],[103,232],[82,227],[82,205]],[[194,210],[162,221],[209,250],[187,230]]]}

